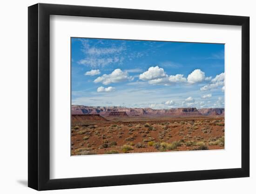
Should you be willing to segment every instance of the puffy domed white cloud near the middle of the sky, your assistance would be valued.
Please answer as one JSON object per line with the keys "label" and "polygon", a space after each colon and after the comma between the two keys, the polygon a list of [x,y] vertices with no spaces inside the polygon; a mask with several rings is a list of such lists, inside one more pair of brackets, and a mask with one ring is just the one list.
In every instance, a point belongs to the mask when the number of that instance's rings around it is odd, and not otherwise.
{"label": "puffy domed white cloud near the middle of the sky", "polygon": [[145,71],[144,73],[140,74],[139,78],[140,80],[154,80],[158,78],[165,77],[166,74],[163,70],[163,68],[160,68],[158,66],[155,67],[149,67],[148,71]]}

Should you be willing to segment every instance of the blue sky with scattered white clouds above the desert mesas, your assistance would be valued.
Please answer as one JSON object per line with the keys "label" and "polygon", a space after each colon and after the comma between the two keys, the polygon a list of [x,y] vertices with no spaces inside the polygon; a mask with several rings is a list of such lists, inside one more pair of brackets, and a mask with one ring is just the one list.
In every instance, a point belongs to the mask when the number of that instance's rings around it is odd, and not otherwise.
{"label": "blue sky with scattered white clouds above the desert mesas", "polygon": [[224,107],[224,45],[71,38],[72,104]]}

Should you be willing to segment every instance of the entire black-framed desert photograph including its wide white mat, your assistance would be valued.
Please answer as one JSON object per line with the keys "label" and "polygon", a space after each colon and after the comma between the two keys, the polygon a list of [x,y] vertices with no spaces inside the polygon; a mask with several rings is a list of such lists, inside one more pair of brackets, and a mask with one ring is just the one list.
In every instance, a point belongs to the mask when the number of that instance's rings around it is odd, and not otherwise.
{"label": "entire black-framed desert photograph including its wide white mat", "polygon": [[28,7],[28,187],[249,176],[249,17]]}

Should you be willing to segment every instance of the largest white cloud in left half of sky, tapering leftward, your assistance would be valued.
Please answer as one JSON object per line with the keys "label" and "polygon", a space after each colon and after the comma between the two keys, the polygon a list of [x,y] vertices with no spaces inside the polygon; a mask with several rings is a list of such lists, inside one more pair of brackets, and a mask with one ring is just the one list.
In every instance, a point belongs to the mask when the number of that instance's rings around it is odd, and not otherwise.
{"label": "largest white cloud in left half of sky, tapering leftward", "polygon": [[118,83],[132,79],[132,76],[129,76],[128,72],[123,72],[121,69],[115,69],[111,74],[103,74],[102,76],[96,78],[94,83],[101,82],[104,85],[108,85],[111,83]]}

